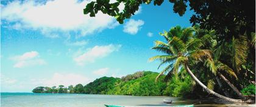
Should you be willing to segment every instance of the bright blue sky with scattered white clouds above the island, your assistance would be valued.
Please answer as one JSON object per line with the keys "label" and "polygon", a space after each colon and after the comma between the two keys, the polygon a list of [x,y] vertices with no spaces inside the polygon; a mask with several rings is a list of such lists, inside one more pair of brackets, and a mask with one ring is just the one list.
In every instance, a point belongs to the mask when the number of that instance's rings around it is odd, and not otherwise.
{"label": "bright blue sky with scattered white clouds above the island", "polygon": [[[168,1],[143,4],[124,24],[98,13],[83,14],[89,1],[1,1],[1,92],[31,92],[37,86],[86,85],[103,77],[155,71],[149,58],[164,30],[190,27]],[[123,8],[120,5],[119,8]]]}

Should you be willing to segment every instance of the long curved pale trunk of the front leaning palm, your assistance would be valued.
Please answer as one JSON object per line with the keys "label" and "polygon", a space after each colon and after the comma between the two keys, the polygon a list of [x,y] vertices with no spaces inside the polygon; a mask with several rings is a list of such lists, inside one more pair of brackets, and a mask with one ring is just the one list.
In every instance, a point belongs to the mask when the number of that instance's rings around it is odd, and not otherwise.
{"label": "long curved pale trunk of the front leaning palm", "polygon": [[211,89],[207,88],[200,80],[197,79],[196,76],[190,71],[190,68],[188,68],[188,65],[185,64],[185,69],[190,74],[190,76],[200,85],[202,88],[204,88],[209,94],[213,94],[216,97],[219,97],[223,100],[229,101],[229,102],[236,102],[236,103],[243,103],[243,100],[240,99],[231,99],[229,97],[222,96],[221,94],[216,93],[215,91],[212,91]]}

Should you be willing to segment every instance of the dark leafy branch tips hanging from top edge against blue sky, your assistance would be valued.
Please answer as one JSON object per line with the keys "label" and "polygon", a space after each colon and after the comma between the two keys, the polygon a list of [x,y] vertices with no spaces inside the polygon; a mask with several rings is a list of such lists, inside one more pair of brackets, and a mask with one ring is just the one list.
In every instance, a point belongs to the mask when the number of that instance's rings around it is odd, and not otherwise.
{"label": "dark leafy branch tips hanging from top edge against blue sky", "polygon": [[[110,3],[109,0],[98,0],[90,2],[84,8],[84,14],[90,13],[91,17],[94,17],[98,11],[102,11],[102,13],[107,14],[109,16],[113,16],[120,23],[124,23],[124,19],[129,19],[132,15],[135,15],[135,12],[138,10],[141,4],[150,4],[152,0],[117,0],[116,2]],[[154,0],[154,5],[161,5],[164,0]],[[174,13],[179,13],[182,16],[185,11],[187,5],[186,1],[170,1],[174,3],[173,10]],[[124,4],[124,10],[119,11],[119,4]]]}

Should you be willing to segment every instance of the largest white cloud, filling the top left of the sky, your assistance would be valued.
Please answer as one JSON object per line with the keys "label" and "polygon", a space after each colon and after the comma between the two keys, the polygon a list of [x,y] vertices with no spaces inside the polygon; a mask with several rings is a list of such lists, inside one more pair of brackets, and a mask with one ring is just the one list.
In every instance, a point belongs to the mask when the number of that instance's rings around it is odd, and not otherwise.
{"label": "largest white cloud, filling the top left of the sky", "polygon": [[115,18],[99,11],[96,17],[84,15],[83,9],[90,1],[54,0],[46,2],[12,1],[1,5],[1,21],[14,29],[40,30],[47,37],[59,37],[69,31],[79,36],[113,27]]}

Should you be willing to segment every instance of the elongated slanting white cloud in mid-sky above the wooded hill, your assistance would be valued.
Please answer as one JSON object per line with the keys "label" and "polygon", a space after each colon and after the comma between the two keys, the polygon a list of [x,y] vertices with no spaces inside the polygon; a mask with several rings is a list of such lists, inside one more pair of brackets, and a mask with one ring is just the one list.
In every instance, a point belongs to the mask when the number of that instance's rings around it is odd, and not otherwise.
{"label": "elongated slanting white cloud in mid-sky above the wooded hill", "polygon": [[121,48],[121,45],[96,45],[95,47],[88,49],[88,51],[86,51],[85,53],[77,55],[76,57],[74,57],[73,60],[77,63],[77,65],[93,63],[96,59],[108,56],[108,54],[112,53],[113,51],[118,51],[119,48]]}

